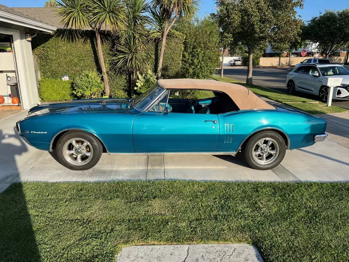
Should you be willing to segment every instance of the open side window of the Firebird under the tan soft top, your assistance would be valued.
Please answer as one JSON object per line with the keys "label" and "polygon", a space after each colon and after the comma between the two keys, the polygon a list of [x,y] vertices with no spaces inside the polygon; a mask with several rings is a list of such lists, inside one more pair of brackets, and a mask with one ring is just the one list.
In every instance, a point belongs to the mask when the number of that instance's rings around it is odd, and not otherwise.
{"label": "open side window of the Firebird under the tan soft top", "polygon": [[172,89],[170,113],[223,114],[239,110],[229,95],[212,90]]}

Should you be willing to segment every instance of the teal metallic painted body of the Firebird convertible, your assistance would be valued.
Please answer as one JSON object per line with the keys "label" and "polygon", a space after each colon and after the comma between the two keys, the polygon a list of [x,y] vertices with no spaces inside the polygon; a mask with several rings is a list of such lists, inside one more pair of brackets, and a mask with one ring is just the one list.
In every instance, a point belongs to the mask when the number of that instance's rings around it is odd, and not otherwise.
{"label": "teal metallic painted body of the Firebird convertible", "polygon": [[[282,131],[290,140],[289,149],[314,144],[314,136],[326,130],[324,119],[280,104],[274,104],[275,110],[159,115],[127,109],[124,101],[96,99],[40,105],[20,121],[21,133],[34,147],[47,151],[57,134],[80,129],[95,134],[109,153],[233,154],[248,136],[259,130]],[[227,132],[225,124],[232,124],[233,131]]]}

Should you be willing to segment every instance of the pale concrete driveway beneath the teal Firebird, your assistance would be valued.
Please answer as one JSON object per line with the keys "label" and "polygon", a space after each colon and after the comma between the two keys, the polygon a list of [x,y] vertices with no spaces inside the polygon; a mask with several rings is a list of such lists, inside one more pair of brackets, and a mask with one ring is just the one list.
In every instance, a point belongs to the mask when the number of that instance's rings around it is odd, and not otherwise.
{"label": "pale concrete driveway beneath the teal Firebird", "polygon": [[330,140],[311,147],[287,151],[273,170],[254,170],[241,156],[154,155],[109,156],[86,171],[62,166],[55,152],[40,151],[15,131],[15,123],[27,112],[0,120],[0,192],[16,181],[349,181],[349,149]]}

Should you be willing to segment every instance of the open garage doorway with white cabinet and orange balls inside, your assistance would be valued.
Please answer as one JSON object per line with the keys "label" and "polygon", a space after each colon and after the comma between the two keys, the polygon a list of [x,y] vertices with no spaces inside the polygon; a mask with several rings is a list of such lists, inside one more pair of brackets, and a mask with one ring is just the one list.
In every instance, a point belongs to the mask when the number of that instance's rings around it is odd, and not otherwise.
{"label": "open garage doorway with white cabinet and orange balls inside", "polygon": [[0,34],[0,109],[21,109],[13,38]]}

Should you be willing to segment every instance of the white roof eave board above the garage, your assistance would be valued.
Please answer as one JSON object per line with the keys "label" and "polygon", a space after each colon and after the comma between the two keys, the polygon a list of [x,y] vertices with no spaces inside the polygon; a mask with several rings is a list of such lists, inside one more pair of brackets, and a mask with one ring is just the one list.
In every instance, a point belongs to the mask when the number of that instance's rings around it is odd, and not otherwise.
{"label": "white roof eave board above the garage", "polygon": [[50,26],[49,24],[10,14],[4,11],[0,11],[0,21],[10,24],[16,24],[18,26],[33,28],[47,33],[52,33],[54,30],[57,29],[56,27]]}

